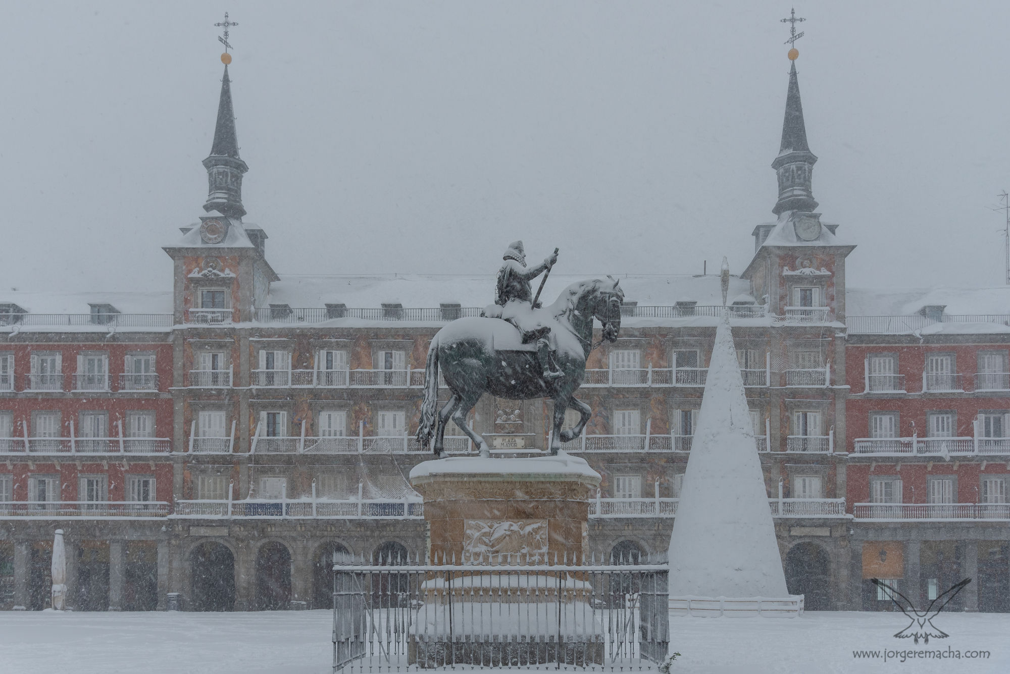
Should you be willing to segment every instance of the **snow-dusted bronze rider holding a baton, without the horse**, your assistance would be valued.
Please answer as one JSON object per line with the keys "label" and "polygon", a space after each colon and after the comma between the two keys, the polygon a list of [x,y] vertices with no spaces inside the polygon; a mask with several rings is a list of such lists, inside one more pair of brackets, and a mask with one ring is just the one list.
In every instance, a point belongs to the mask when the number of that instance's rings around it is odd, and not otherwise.
{"label": "snow-dusted bronze rider holding a baton, without the horse", "polygon": [[533,306],[533,293],[529,282],[553,266],[558,253],[553,252],[534,267],[526,266],[526,254],[522,241],[513,241],[502,256],[505,263],[498,270],[495,304],[502,308],[501,318],[505,319],[522,334],[522,343],[536,342],[536,358],[547,381],[565,376],[553,369],[550,362],[550,324],[541,319],[537,302]]}

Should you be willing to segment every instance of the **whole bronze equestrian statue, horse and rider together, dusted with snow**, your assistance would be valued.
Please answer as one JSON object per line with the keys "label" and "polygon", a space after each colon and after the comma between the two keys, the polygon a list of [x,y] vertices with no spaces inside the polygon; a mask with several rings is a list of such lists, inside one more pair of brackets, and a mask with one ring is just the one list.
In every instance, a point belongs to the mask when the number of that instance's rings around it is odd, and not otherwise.
{"label": "whole bronze equestrian statue, horse and rider together, dusted with snow", "polygon": [[[550,453],[578,438],[589,422],[591,409],[574,394],[586,376],[586,359],[593,347],[593,320],[603,325],[603,338],[617,339],[621,327],[624,291],[611,276],[572,284],[558,300],[541,307],[538,299],[558,249],[533,267],[526,266],[522,241],[505,251],[498,272],[495,304],[480,318],[461,318],[431,339],[424,371],[424,402],[417,440],[442,452],[449,419],[489,456],[488,445],[467,428],[467,415],[485,392],[513,401],[549,398],[554,402]],[[530,280],[543,273],[536,296]],[[438,410],[438,374],[451,397]],[[565,411],[579,412],[579,423],[562,430]]]}

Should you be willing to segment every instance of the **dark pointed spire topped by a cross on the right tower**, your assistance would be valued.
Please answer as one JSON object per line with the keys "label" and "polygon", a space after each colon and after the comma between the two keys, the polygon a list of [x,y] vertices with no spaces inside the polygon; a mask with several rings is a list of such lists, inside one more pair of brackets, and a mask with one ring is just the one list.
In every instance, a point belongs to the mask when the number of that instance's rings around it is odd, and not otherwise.
{"label": "dark pointed spire topped by a cross on the right tower", "polygon": [[812,188],[812,174],[817,157],[807,145],[807,129],[803,123],[803,103],[800,101],[800,82],[796,77],[796,59],[800,52],[796,49],[796,40],[803,33],[796,32],[796,22],[804,19],[796,18],[795,12],[789,19],[792,34],[786,40],[792,44],[789,50],[789,89],[786,93],[786,116],[782,122],[782,144],[779,156],[775,157],[772,167],[779,177],[779,201],[772,212],[779,215],[785,211],[812,212],[817,208]]}

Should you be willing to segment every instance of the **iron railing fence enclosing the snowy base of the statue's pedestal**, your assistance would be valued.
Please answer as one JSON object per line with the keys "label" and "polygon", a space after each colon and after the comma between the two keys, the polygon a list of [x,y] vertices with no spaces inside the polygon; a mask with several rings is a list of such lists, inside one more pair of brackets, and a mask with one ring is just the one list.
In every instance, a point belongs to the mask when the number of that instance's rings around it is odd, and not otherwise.
{"label": "iron railing fence enclosing the snowy base of the statue's pedestal", "polygon": [[334,673],[624,671],[667,658],[665,564],[337,564],[333,572]]}

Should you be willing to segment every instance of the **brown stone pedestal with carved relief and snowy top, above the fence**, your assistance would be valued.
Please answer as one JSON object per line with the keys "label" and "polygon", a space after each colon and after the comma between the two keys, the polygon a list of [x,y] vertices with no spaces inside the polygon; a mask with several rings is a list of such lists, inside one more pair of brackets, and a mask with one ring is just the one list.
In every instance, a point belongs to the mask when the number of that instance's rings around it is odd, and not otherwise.
{"label": "brown stone pedestal with carved relief and snowy top, above the fence", "polygon": [[451,457],[418,464],[410,483],[424,498],[432,564],[581,564],[588,553],[600,474],[584,459]]}

